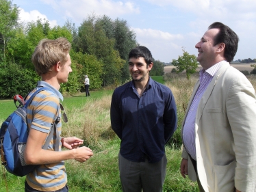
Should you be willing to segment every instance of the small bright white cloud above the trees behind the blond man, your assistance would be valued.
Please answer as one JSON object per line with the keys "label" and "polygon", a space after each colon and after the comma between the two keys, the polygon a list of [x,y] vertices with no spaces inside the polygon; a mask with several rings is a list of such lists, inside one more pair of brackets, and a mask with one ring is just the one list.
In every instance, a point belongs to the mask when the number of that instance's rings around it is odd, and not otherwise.
{"label": "small bright white cloud above the trees behind the blond man", "polygon": [[[19,9],[20,9],[19,20],[21,22],[28,23],[31,21],[36,21],[38,18],[49,20],[46,15],[41,14],[40,12],[38,12],[38,10],[32,10],[30,12],[25,12],[25,10],[23,10],[22,8],[19,8]],[[49,24],[51,27],[54,27],[57,25],[57,21],[49,20]]]}

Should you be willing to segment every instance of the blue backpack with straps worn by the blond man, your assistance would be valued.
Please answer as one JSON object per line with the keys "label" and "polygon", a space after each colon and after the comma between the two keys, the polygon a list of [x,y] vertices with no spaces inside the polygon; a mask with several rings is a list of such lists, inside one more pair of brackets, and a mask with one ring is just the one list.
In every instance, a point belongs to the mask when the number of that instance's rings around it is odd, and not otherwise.
{"label": "blue backpack with straps worn by the blond man", "polygon": [[[23,98],[14,99],[20,102],[14,111],[1,125],[0,130],[0,154],[2,165],[16,176],[25,176],[32,172],[38,165],[27,165],[24,161],[24,151],[27,143],[27,137],[29,135],[29,128],[27,127],[27,107],[30,105],[34,96],[42,90],[52,91],[50,88],[41,87],[32,96],[24,102]],[[15,96],[14,96],[15,98]],[[43,149],[47,149],[51,139],[53,138],[53,132],[57,133],[56,124],[60,122],[60,118],[57,117],[55,122],[51,124],[51,131],[44,143]],[[56,141],[60,140],[60,135],[57,135]],[[55,144],[55,151],[59,148],[58,142]]]}

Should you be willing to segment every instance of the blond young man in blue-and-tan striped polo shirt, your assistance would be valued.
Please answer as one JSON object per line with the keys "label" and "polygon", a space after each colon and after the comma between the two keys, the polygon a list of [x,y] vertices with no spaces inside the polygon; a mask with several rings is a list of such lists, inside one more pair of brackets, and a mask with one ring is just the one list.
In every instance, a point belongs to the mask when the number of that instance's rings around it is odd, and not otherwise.
{"label": "blond young man in blue-and-tan striped polo shirt", "polygon": [[[59,92],[60,83],[66,83],[68,74],[72,72],[70,49],[71,44],[66,38],[44,39],[36,46],[32,56],[32,62],[42,81],[38,81],[38,86],[28,98],[40,87],[48,87],[51,91],[39,92],[27,109],[29,137],[25,148],[25,163],[38,165],[26,176],[27,192],[68,191],[64,160],[75,159],[84,162],[92,156],[90,148],[79,148],[83,140],[77,137],[56,139],[58,138],[56,135],[61,135],[62,131],[60,99],[63,100],[63,96]],[[57,123],[57,133],[51,138],[47,150],[44,150],[42,146],[49,135],[51,124],[57,117],[60,118],[60,122]],[[58,146],[58,151],[54,150],[55,145]],[[62,147],[69,150],[62,151]]]}

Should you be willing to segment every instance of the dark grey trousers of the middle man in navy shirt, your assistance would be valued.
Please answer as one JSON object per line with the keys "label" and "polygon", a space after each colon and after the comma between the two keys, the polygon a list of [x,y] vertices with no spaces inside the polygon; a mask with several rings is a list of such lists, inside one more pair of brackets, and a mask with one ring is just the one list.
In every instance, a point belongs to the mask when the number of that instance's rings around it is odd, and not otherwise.
{"label": "dark grey trousers of the middle man in navy shirt", "polygon": [[157,163],[132,162],[118,154],[120,180],[124,192],[162,192],[167,159]]}

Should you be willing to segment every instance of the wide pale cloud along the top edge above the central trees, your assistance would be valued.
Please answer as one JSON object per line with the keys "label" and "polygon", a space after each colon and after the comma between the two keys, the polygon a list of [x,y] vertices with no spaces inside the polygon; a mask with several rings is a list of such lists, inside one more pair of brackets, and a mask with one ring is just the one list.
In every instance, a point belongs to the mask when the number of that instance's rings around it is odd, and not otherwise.
{"label": "wide pale cloud along the top edge above the central trees", "polygon": [[[107,15],[111,18],[122,16],[123,14],[139,14],[140,9],[129,1],[112,0],[41,0],[53,7],[56,12],[63,12],[64,17],[71,18],[75,23],[81,23],[88,14]],[[62,14],[63,14],[62,13]]]}

